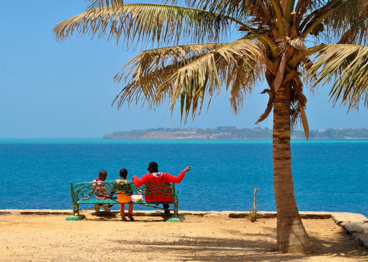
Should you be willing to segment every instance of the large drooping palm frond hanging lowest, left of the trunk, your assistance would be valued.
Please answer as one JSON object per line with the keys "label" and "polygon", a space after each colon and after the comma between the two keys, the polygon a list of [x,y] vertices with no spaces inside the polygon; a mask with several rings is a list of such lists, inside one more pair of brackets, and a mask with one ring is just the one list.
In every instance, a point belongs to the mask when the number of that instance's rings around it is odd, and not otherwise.
{"label": "large drooping palm frond hanging lowest, left of the trunk", "polygon": [[[170,100],[172,110],[180,101],[181,115],[185,111],[187,120],[191,108],[192,117],[197,109],[201,112],[206,93],[212,98],[225,86],[226,90],[230,88],[230,103],[237,113],[244,95],[262,79],[264,56],[263,42],[249,37],[218,46],[207,53],[147,71],[122,90],[118,106],[124,101],[138,103],[143,99],[152,108]],[[148,64],[150,67],[153,63]],[[138,70],[135,72],[138,74]]]}

